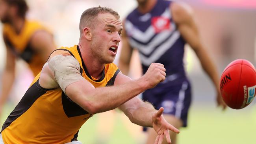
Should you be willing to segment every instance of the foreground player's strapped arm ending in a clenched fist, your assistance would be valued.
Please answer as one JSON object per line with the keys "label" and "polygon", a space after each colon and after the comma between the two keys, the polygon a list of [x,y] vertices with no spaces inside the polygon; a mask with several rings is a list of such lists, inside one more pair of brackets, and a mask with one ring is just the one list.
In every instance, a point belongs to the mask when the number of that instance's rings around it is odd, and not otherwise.
{"label": "foreground player's strapped arm ending in a clenched fist", "polygon": [[81,76],[79,68],[79,63],[74,57],[56,55],[44,65],[39,83],[46,89],[61,87],[73,102],[92,114],[115,109],[165,79],[163,65],[154,63],[139,79],[119,86],[95,88]]}

